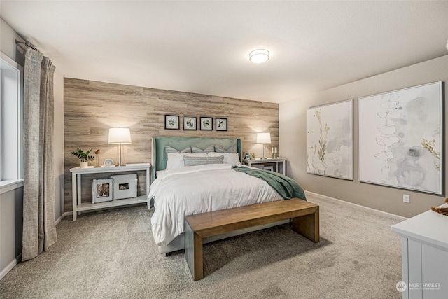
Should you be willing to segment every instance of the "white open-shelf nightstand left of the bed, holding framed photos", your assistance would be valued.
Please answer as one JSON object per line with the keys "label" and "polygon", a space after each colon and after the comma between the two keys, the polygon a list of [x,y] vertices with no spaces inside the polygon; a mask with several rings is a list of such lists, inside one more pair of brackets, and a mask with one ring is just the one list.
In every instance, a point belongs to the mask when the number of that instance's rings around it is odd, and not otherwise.
{"label": "white open-shelf nightstand left of the bed, holding framed photos", "polygon": [[[96,209],[106,209],[109,207],[122,207],[129,204],[148,204],[148,209],[150,208],[150,202],[148,200],[149,193],[149,178],[150,178],[151,164],[141,163],[134,165],[126,165],[121,167],[89,167],[89,168],[79,168],[75,167],[70,169],[71,172],[71,187],[73,193],[73,221],[76,221],[76,217],[81,211],[92,211]],[[112,172],[146,172],[146,194],[140,195],[138,197],[125,198],[120,200],[111,200],[109,202],[96,202],[92,204],[91,202],[81,201],[81,175],[82,174],[107,174]]]}

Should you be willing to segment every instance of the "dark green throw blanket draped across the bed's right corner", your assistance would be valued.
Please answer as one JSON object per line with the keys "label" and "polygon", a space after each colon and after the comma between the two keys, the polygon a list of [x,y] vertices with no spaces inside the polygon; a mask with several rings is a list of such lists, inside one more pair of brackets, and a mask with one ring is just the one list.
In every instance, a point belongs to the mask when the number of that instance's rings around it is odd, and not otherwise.
{"label": "dark green throw blanket draped across the bed's right corner", "polygon": [[268,183],[269,186],[274,188],[274,190],[276,190],[276,192],[279,193],[279,195],[285,200],[289,200],[293,197],[307,200],[302,187],[300,187],[296,181],[290,179],[288,176],[284,176],[283,174],[278,174],[276,172],[252,169],[244,166],[232,166],[232,169],[237,172],[244,172],[250,176],[255,176],[255,178],[262,179]]}

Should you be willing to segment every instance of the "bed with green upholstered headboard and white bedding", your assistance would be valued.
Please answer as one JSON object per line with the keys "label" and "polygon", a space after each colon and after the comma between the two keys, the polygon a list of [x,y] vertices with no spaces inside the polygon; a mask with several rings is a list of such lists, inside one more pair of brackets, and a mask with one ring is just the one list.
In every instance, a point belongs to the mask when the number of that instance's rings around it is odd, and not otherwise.
{"label": "bed with green upholstered headboard and white bedding", "polygon": [[[198,149],[217,148],[220,151],[227,150],[236,153],[181,153],[187,151],[186,149],[189,147],[195,148],[196,151]],[[171,153],[167,153],[168,148]],[[152,183],[148,197],[155,207],[151,218],[151,226],[160,253],[185,249],[184,218],[186,215],[283,200],[283,197],[276,193],[265,181],[248,174],[235,172],[232,169],[232,165],[241,162],[241,149],[241,139],[235,138],[153,138]],[[176,151],[179,153],[173,153]],[[204,158],[209,157],[209,155],[225,157],[226,159],[232,157],[232,163],[172,168],[174,163],[172,161],[179,156],[193,157],[184,158],[184,162],[187,164],[190,160],[195,161],[195,159],[214,159]],[[195,156],[203,158],[195,158]],[[235,158],[237,158],[236,161]],[[229,160],[226,162],[229,162]],[[196,193],[197,190],[200,190],[200,193]],[[253,228],[236,230],[204,239],[204,243],[288,222],[289,220],[277,221]]]}

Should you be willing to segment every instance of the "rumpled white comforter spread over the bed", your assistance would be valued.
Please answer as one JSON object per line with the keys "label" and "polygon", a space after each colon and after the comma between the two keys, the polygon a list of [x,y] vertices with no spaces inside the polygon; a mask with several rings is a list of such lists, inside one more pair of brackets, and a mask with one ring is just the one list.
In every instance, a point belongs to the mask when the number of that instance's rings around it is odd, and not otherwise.
{"label": "rumpled white comforter spread over the bed", "polygon": [[265,181],[235,172],[228,164],[167,170],[151,185],[154,240],[165,246],[185,231],[184,217],[283,198]]}

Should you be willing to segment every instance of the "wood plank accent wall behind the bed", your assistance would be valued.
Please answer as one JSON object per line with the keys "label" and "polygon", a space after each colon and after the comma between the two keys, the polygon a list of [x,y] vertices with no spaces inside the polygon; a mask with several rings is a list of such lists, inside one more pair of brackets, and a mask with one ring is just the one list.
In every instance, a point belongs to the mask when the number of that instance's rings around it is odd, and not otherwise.
{"label": "wood plank accent wall behind the bed", "polygon": [[[165,115],[180,116],[180,130],[165,130]],[[182,116],[196,116],[197,130],[183,130]],[[200,116],[214,118],[213,131],[200,130]],[[215,118],[228,118],[228,131],[215,130]],[[279,105],[200,95],[172,90],[118,85],[97,81],[64,78],[64,211],[71,211],[71,173],[79,165],[71,151],[81,148],[101,149],[99,162],[111,158],[118,161],[116,146],[108,144],[109,128],[129,127],[132,144],[125,145],[125,162],[151,162],[151,139],[154,136],[239,137],[243,151],[262,155],[256,144],[257,132],[270,132],[272,144],[279,147]],[[91,162],[95,164],[96,162]],[[87,179],[87,178],[86,178]],[[83,198],[90,199],[92,178],[83,181]],[[144,179],[144,176],[139,179]],[[90,188],[89,188],[90,187]],[[145,190],[139,190],[139,193]],[[88,201],[88,200],[86,200]]]}

